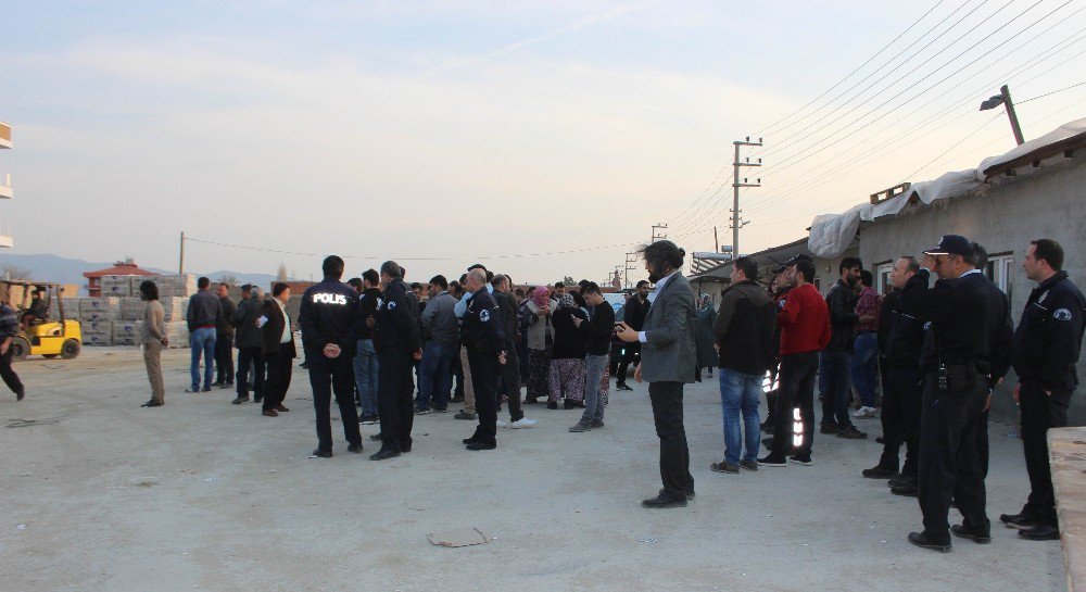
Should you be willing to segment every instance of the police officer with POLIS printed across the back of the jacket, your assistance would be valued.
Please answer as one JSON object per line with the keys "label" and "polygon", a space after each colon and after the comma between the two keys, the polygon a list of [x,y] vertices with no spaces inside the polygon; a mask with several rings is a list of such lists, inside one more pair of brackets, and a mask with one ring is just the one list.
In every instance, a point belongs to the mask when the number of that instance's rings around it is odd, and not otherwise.
{"label": "police officer with POLIS printed across the back of the jacket", "polygon": [[354,406],[355,344],[359,330],[358,295],[343,277],[343,260],[329,255],[321,269],[325,279],[310,287],[302,295],[298,323],[302,328],[302,347],[310,362],[310,385],[313,387],[313,408],[317,414],[317,450],[315,456],[332,455],[332,428],[329,417],[331,393],[340,408],[340,419],[346,436],[348,452],[362,452],[358,412]]}

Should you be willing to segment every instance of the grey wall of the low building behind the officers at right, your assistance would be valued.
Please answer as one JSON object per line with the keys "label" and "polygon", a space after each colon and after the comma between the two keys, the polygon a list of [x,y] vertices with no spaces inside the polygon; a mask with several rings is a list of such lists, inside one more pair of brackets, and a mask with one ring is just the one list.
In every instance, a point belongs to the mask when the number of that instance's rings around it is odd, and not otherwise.
{"label": "grey wall of the low building behind the officers at right", "polygon": [[[1014,324],[1036,284],[1025,277],[1022,260],[1030,241],[1051,238],[1063,245],[1064,269],[1081,289],[1086,287],[1086,154],[1073,159],[1059,156],[1040,168],[1019,169],[1019,176],[992,179],[989,184],[962,198],[932,205],[907,206],[894,218],[861,227],[860,256],[864,267],[900,255],[921,256],[925,248],[946,234],[964,235],[992,255],[1010,253],[1013,257],[1008,276],[1008,295]],[[1078,376],[1086,377],[1086,361],[1078,362]],[[1011,398],[1013,370],[993,396],[993,417],[1016,421],[1018,408]],[[1073,398],[1072,425],[1086,423],[1086,401]]]}

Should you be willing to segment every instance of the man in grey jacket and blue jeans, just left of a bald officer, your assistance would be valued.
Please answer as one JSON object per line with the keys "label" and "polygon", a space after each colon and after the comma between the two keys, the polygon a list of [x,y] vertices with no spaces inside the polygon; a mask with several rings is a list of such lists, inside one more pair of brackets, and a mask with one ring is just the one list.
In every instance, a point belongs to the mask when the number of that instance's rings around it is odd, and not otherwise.
{"label": "man in grey jacket and blue jeans, just left of a bald officer", "polygon": [[447,411],[453,388],[453,356],[459,351],[459,324],[453,312],[456,299],[449,293],[445,276],[433,276],[429,290],[430,300],[422,311],[422,330],[429,340],[422,348],[415,415]]}

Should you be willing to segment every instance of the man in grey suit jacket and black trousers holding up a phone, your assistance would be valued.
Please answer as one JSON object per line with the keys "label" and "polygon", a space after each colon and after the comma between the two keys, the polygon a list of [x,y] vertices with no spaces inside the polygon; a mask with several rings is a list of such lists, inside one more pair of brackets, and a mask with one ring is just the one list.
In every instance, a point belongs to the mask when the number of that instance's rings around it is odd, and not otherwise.
{"label": "man in grey suit jacket and black trousers holding up a phone", "polygon": [[645,507],[683,507],[694,497],[694,478],[690,474],[690,449],[683,427],[682,389],[694,381],[694,290],[683,277],[686,252],[669,240],[641,249],[649,281],[656,284],[656,298],[645,316],[644,329],[633,330],[623,323],[616,329],[622,341],[641,342],[641,364],[634,370],[637,382],[648,381],[656,434],[660,438],[659,495],[645,500]]}

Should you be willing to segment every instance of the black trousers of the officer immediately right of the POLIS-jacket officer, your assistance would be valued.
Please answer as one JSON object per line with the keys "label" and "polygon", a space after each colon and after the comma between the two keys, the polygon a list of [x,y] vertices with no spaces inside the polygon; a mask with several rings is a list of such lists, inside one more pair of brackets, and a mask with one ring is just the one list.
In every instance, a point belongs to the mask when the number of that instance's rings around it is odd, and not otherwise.
{"label": "black trousers of the officer immediately right of the POLIS-jacket officer", "polygon": [[414,369],[409,353],[377,354],[377,412],[381,416],[382,450],[411,450],[411,430],[415,425],[415,402],[412,400],[415,394]]}

